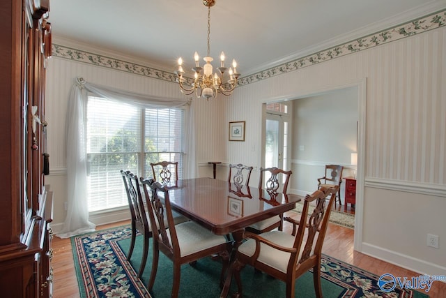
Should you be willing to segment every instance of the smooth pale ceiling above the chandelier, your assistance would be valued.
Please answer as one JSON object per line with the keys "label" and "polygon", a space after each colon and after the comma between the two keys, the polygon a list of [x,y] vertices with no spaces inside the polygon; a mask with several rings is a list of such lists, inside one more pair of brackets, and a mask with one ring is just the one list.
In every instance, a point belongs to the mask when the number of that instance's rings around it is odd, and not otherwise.
{"label": "smooth pale ceiling above the chandelier", "polygon": [[[445,7],[446,0],[216,0],[210,56],[224,51],[243,77]],[[207,17],[201,0],[53,0],[49,12],[54,43],[172,72],[178,57],[192,68],[195,51],[206,56]]]}

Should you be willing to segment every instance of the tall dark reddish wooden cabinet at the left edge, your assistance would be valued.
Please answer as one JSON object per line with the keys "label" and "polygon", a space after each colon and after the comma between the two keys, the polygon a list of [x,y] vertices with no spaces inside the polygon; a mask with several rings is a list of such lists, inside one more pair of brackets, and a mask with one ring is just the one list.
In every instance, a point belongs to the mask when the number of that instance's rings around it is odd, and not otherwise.
{"label": "tall dark reddish wooden cabinet at the left edge", "polygon": [[1,297],[52,297],[52,192],[45,186],[48,13],[49,0],[0,1]]}

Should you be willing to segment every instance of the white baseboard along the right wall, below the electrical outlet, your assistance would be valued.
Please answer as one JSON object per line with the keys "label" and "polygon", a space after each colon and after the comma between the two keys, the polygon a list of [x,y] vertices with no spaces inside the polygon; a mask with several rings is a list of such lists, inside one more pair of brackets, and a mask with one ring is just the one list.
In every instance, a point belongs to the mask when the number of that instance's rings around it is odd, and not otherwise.
{"label": "white baseboard along the right wall, below the electrical outlet", "polygon": [[[426,274],[429,276],[433,275],[444,276],[446,272],[446,267],[436,265],[431,262],[426,262],[424,260],[416,259],[410,257],[410,255],[403,255],[402,253],[397,253],[396,251],[390,251],[387,248],[382,248],[366,242],[362,243],[361,253],[364,253],[364,255],[369,255],[371,257],[377,258],[379,260],[383,260],[385,262],[389,262],[390,264],[397,265],[404,269],[415,271],[420,275]],[[392,272],[382,272],[382,274],[385,273],[392,274]]]}

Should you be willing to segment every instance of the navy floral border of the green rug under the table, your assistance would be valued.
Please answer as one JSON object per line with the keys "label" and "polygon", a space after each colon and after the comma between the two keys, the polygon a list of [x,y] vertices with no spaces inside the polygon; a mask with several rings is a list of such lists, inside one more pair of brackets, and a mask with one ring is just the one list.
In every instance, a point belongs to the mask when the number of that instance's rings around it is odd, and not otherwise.
{"label": "navy floral border of the green rug under the table", "polygon": [[[94,237],[91,237],[94,235]],[[99,230],[90,232],[87,234],[78,235],[71,238],[72,253],[75,259],[75,269],[77,281],[79,283],[80,297],[147,297],[152,298],[144,283],[137,277],[136,271],[133,269],[130,262],[127,261],[125,253],[123,252],[118,241],[128,239],[131,236],[130,225],[123,225],[116,228],[110,228],[107,230]],[[94,241],[87,238],[93,238]],[[93,243],[91,255],[86,253],[84,244]],[[101,248],[103,245],[109,245],[110,250],[107,248]],[[105,260],[96,260],[94,257],[101,255]],[[82,264],[79,264],[79,260]],[[112,276],[115,278],[116,283],[111,285],[105,283],[107,286],[102,285],[102,288],[98,290],[95,286],[94,274],[91,267],[96,269],[104,269],[105,273],[110,273],[107,269],[110,268],[111,260],[114,260],[116,267],[121,266],[122,269],[116,269],[112,272]],[[88,263],[91,263],[90,265]],[[385,293],[380,291],[376,285],[376,281],[379,276],[373,274],[367,270],[361,269],[354,265],[350,265],[337,258],[330,257],[329,255],[323,255],[322,258],[321,276],[328,281],[336,283],[344,288],[344,291],[339,297],[403,297],[410,298],[415,297],[416,291],[401,290],[396,288],[397,292]],[[98,270],[100,271],[100,270]],[[97,274],[97,278],[100,281],[107,279],[103,272]],[[129,292],[129,289],[134,288],[133,292]],[[127,290],[127,292],[125,292]],[[123,295],[119,295],[122,293]],[[378,293],[380,296],[378,296]],[[418,294],[426,295],[422,292]],[[139,295],[139,296],[136,296]],[[429,297],[429,296],[425,296]]]}

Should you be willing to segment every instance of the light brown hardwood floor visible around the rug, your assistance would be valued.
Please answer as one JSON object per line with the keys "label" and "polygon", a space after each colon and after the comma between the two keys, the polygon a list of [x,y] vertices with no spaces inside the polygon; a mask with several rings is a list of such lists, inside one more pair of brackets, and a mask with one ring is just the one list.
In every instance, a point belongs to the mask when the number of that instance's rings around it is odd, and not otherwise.
{"label": "light brown hardwood floor visible around the rug", "polygon": [[[339,207],[339,205],[338,205]],[[341,207],[344,210],[344,206]],[[340,210],[339,210],[340,211]],[[286,216],[297,217],[298,214],[288,212]],[[98,226],[98,230],[112,228],[118,225],[129,224],[130,221],[121,221],[109,225]],[[284,230],[289,232],[291,226],[284,225]],[[374,274],[381,275],[391,273],[394,276],[418,276],[413,271],[397,267],[390,263],[371,258],[368,255],[353,251],[353,230],[343,228],[339,225],[329,224],[325,241],[323,245],[323,253],[333,258],[342,260],[356,267],[370,271]],[[79,288],[75,274],[75,265],[72,258],[72,248],[70,239],[60,239],[54,237],[52,242],[54,258],[52,266],[54,269],[54,298],[77,298],[79,297]],[[435,281],[432,284],[428,295],[433,298],[446,297],[446,283]]]}

